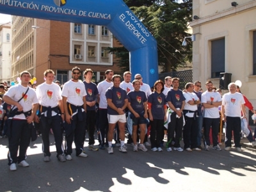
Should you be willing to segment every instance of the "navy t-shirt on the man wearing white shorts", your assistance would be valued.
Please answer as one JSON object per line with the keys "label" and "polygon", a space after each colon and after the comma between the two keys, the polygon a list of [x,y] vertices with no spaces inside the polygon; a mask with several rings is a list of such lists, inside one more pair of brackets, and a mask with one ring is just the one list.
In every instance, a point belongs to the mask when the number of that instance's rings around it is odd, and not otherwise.
{"label": "navy t-shirt on the man wearing white shorts", "polygon": [[[106,100],[111,99],[116,108],[122,108],[124,106],[124,100],[128,99],[126,91],[121,87],[109,87],[105,94]],[[109,106],[107,108],[109,115],[119,115],[113,108]]]}

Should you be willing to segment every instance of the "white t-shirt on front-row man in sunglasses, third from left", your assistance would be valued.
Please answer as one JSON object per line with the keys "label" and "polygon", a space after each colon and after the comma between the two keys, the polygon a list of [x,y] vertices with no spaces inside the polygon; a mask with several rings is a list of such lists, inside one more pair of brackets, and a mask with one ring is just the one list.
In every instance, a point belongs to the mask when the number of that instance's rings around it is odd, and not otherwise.
{"label": "white t-shirt on front-row man in sunglasses, third from left", "polygon": [[83,82],[79,80],[74,82],[69,80],[64,84],[62,89],[62,96],[67,98],[67,102],[72,105],[81,106],[84,104],[83,97],[86,96],[86,91]]}

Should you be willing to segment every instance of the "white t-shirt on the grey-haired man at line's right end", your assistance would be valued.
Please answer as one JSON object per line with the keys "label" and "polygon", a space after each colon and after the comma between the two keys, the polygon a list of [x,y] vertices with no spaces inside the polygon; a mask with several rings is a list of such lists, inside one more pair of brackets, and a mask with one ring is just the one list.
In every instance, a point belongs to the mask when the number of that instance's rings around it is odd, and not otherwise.
{"label": "white t-shirt on the grey-haired man at line's right end", "polygon": [[222,105],[225,107],[225,115],[228,117],[241,117],[241,105],[245,103],[240,92],[227,92],[222,97]]}

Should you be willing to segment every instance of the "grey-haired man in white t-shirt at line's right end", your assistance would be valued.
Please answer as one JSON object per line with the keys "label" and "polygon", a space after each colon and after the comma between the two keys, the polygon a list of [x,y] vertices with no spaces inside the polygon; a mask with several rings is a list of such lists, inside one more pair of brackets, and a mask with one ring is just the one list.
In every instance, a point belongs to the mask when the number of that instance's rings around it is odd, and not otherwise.
{"label": "grey-haired man in white t-shirt at line's right end", "polygon": [[232,131],[234,133],[234,143],[236,146],[236,151],[241,151],[241,111],[243,117],[245,118],[246,112],[244,107],[243,94],[236,92],[236,84],[228,84],[228,90],[226,94],[222,97],[221,105],[221,115],[223,121],[227,123],[225,132],[225,151],[230,151],[231,149],[231,138]]}

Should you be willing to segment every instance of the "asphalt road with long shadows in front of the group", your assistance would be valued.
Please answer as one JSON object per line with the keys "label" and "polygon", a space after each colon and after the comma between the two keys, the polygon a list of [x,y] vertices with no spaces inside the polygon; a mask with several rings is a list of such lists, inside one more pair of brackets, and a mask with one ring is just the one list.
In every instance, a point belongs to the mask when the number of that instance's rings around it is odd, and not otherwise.
{"label": "asphalt road with long shadows in front of the group", "polygon": [[115,147],[109,155],[106,149],[88,151],[86,140],[88,158],[73,151],[73,160],[61,163],[51,145],[51,161],[45,163],[39,137],[28,149],[30,166],[11,172],[8,139],[1,138],[0,191],[256,191],[256,147],[246,138],[241,143],[242,152],[133,152],[128,147],[123,154]]}

